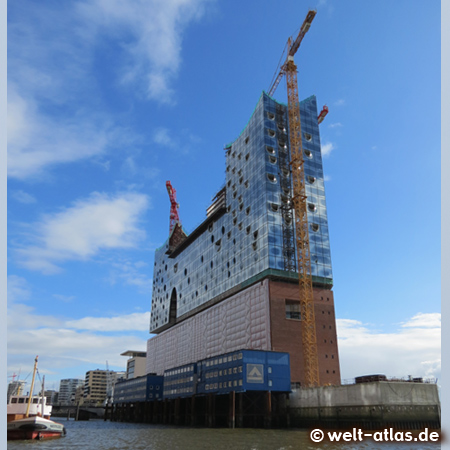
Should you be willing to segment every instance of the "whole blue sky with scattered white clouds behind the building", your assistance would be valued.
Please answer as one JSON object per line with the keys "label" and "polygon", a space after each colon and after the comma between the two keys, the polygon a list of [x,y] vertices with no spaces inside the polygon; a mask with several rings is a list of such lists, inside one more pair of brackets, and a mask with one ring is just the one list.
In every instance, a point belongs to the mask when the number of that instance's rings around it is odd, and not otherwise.
{"label": "whole blue sky with scattered white clouds behind the building", "polygon": [[[440,3],[8,4],[8,381],[146,350],[165,188],[190,232],[309,8],[343,380],[440,378]],[[275,98],[286,101],[285,82]]]}

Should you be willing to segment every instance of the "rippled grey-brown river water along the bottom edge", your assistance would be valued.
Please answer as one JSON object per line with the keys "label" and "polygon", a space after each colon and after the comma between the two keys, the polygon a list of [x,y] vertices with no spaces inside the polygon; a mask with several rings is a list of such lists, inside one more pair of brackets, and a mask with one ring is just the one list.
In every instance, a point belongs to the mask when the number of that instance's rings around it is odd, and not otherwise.
{"label": "rippled grey-brown river water along the bottom edge", "polygon": [[63,423],[67,435],[42,441],[8,441],[8,450],[437,450],[439,443],[313,443],[303,430],[211,429],[148,425],[103,420]]}

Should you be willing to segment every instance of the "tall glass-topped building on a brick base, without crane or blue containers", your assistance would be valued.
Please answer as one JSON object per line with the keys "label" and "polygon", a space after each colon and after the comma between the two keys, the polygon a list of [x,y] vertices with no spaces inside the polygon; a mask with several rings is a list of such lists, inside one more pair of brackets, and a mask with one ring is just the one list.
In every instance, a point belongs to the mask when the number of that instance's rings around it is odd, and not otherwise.
{"label": "tall glass-topped building on a brick base, without crane or blue containers", "polygon": [[[340,384],[330,240],[314,96],[300,102],[321,384]],[[189,235],[155,252],[147,373],[241,349],[287,352],[304,383],[287,106],[263,93],[225,146],[225,184]],[[198,167],[198,171],[206,168]]]}

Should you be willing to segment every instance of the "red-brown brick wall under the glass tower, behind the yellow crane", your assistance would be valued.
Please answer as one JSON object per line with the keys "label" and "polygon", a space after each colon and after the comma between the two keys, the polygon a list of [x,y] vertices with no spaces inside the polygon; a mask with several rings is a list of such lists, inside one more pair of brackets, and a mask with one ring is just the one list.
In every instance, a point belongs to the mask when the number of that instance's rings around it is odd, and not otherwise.
{"label": "red-brown brick wall under the glass tower, behind the yellow crane", "polygon": [[[289,352],[291,382],[304,384],[301,321],[286,318],[286,300],[298,301],[298,285],[269,282],[272,350]],[[339,354],[333,291],[314,288],[319,379],[321,385],[339,385]]]}

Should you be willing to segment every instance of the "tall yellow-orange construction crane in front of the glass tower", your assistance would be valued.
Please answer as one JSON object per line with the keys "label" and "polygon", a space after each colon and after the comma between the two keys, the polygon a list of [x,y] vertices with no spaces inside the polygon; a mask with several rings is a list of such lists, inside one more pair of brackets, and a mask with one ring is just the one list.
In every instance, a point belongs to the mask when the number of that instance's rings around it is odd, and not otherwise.
{"label": "tall yellow-orange construction crane in front of the glass tower", "polygon": [[314,317],[314,295],[311,276],[311,255],[309,250],[308,217],[305,190],[305,171],[302,148],[302,129],[300,123],[300,104],[298,98],[297,66],[294,55],[303,37],[309,30],[316,11],[310,10],[304,20],[300,32],[292,42],[287,42],[287,56],[275,72],[268,91],[273,95],[283,75],[286,75],[288,95],[289,142],[291,150],[291,168],[293,182],[292,204],[295,212],[295,235],[297,244],[298,279],[300,288],[300,311],[302,321],[302,346],[305,364],[306,386],[319,386],[319,361],[317,355],[316,321]]}

